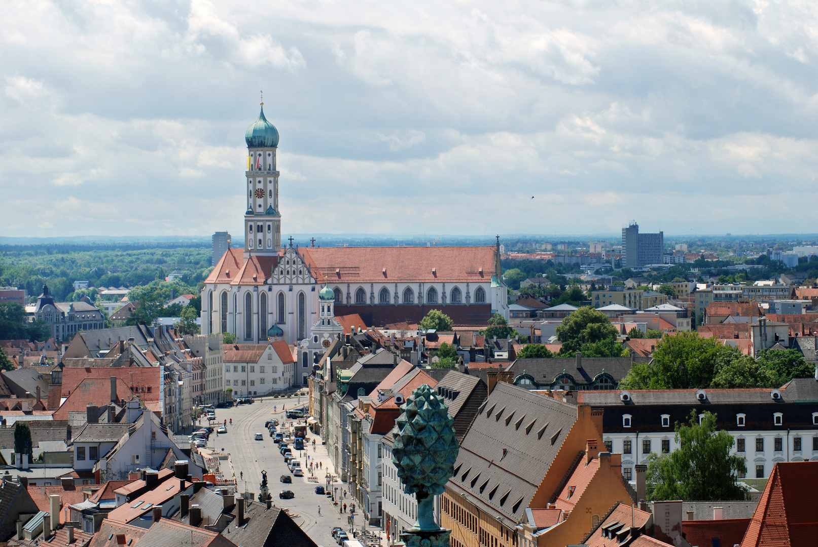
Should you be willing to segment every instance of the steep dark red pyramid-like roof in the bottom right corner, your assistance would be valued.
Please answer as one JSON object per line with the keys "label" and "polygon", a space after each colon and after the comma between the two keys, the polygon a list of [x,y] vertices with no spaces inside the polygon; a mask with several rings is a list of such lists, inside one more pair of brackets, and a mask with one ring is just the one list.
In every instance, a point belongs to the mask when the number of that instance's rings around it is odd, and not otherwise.
{"label": "steep dark red pyramid-like roof in the bottom right corner", "polygon": [[818,461],[775,464],[741,547],[818,543]]}

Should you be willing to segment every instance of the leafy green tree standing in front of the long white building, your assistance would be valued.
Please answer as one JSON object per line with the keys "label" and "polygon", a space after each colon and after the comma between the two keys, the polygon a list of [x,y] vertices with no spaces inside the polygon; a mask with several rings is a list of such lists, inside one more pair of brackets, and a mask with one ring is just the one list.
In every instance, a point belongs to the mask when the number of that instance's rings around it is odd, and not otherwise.
{"label": "leafy green tree standing in front of the long white building", "polygon": [[744,457],[730,454],[735,439],[716,431],[716,415],[704,411],[699,423],[690,412],[690,425],[676,423],[679,448],[648,459],[649,498],[652,500],[746,500],[738,484],[747,473]]}

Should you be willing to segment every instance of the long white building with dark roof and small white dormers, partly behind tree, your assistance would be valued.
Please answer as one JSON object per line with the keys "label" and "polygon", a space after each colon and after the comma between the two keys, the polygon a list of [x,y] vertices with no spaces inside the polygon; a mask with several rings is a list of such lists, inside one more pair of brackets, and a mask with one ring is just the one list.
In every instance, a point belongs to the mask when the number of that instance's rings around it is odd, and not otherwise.
{"label": "long white building with dark roof and small white dormers, partly behind tree", "polygon": [[[572,399],[569,399],[572,400]],[[818,380],[791,380],[780,389],[645,389],[580,391],[577,404],[604,411],[603,440],[622,453],[622,474],[651,453],[676,448],[674,426],[691,411],[717,415],[717,428],[735,438],[732,452],[747,460],[748,477],[767,478],[779,461],[818,457]]]}

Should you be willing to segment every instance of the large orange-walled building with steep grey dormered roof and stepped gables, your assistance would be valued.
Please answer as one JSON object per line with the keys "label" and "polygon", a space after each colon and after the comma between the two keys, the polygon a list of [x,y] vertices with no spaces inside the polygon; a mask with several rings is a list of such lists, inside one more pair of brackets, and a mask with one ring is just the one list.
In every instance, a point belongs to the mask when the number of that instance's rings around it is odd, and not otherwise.
{"label": "large orange-walled building with steep grey dormered roof and stepped gables", "polygon": [[[441,497],[441,525],[452,529],[452,545],[520,545],[517,524],[528,509],[555,503],[570,515],[548,534],[547,545],[578,544],[594,515],[631,498],[618,476],[621,455],[596,447],[601,412],[573,407],[559,391],[537,394],[505,381],[488,387]],[[573,510],[578,500],[583,509]],[[546,545],[544,538],[536,545]]]}

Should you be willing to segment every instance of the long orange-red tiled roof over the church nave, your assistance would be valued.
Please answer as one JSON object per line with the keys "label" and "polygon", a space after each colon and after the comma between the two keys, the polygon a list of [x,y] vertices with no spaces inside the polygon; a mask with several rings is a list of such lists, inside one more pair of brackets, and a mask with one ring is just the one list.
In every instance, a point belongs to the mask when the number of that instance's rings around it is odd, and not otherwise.
{"label": "long orange-red tiled roof over the church nave", "polygon": [[491,280],[494,251],[494,247],[304,247],[301,253],[313,277],[330,282],[465,283]]}

